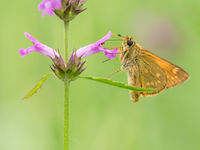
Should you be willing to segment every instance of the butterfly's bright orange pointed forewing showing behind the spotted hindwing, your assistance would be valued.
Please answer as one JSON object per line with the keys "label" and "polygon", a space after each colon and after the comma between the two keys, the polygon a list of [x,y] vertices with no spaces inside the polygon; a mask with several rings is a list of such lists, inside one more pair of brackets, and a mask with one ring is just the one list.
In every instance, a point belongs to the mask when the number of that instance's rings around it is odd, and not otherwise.
{"label": "butterfly's bright orange pointed forewing showing behind the spotted hindwing", "polygon": [[189,75],[179,66],[176,66],[147,50],[142,50],[143,55],[147,55],[152,58],[165,72],[167,75],[167,87],[170,88],[183,83],[189,78]]}

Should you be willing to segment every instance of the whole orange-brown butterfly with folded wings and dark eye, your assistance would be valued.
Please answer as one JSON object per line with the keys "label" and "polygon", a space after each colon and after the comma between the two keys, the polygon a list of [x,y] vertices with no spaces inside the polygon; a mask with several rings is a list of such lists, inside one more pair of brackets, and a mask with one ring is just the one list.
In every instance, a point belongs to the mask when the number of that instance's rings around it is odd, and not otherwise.
{"label": "whole orange-brown butterfly with folded wings and dark eye", "polygon": [[131,36],[125,36],[119,49],[121,70],[126,70],[129,84],[137,88],[155,89],[154,92],[130,91],[133,102],[140,96],[152,96],[183,83],[189,75],[179,66],[144,50]]}

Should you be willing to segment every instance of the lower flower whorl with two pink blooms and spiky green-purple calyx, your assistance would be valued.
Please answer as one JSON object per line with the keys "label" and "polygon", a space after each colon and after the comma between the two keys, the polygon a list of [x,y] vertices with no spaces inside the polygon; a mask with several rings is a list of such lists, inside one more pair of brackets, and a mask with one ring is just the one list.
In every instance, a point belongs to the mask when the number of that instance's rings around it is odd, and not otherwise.
{"label": "lower flower whorl with two pink blooms and spiky green-purple calyx", "polygon": [[81,60],[87,56],[99,52],[104,52],[104,55],[108,59],[113,59],[117,55],[117,49],[109,50],[102,47],[102,45],[111,37],[111,32],[108,32],[108,34],[105,37],[98,40],[97,42],[81,47],[76,52],[73,52],[71,58],[67,63],[64,62],[62,56],[56,50],[48,47],[45,44],[42,44],[27,32],[25,33],[25,36],[34,45],[28,47],[27,49],[20,48],[19,50],[20,55],[24,57],[25,55],[32,53],[33,51],[36,51],[51,58],[54,63],[51,69],[54,71],[55,75],[63,81],[74,80],[78,75],[80,75],[85,70],[85,68],[83,69],[85,61],[81,62]]}

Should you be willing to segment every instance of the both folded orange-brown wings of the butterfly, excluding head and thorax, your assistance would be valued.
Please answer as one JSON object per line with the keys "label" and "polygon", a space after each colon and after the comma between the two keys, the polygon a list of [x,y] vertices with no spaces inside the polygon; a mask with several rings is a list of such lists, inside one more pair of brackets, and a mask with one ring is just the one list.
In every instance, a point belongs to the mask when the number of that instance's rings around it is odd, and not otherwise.
{"label": "both folded orange-brown wings of the butterfly, excluding head and thorax", "polygon": [[152,54],[147,50],[133,60],[130,84],[138,88],[155,89],[156,92],[131,91],[133,101],[137,102],[140,95],[150,96],[162,92],[164,89],[179,85],[189,78],[182,68]]}

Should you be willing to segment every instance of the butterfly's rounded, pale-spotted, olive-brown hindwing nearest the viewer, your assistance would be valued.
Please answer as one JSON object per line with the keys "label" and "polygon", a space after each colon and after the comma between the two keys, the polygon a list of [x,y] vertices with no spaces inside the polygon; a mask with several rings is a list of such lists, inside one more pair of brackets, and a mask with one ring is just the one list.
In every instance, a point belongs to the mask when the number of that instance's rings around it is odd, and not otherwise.
{"label": "butterfly's rounded, pale-spotted, olive-brown hindwing nearest the viewer", "polygon": [[149,55],[141,53],[133,60],[130,84],[138,88],[155,89],[155,92],[131,91],[133,101],[138,101],[140,95],[155,95],[163,91],[167,86],[166,72]]}

